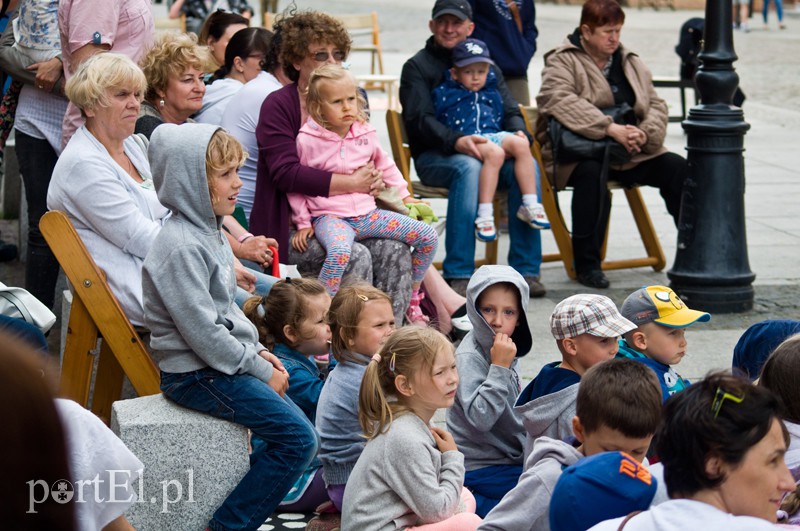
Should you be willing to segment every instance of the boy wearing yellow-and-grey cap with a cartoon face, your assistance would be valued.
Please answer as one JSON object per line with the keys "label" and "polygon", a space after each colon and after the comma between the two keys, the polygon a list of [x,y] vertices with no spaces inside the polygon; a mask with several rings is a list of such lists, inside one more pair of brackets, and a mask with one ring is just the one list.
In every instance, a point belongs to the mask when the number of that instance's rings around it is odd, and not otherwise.
{"label": "boy wearing yellow-and-grey cap with a cartoon face", "polygon": [[640,361],[653,369],[664,400],[685,389],[684,380],[671,366],[686,355],[686,328],[711,315],[692,310],[666,286],[646,286],[628,295],[620,313],[638,328],[619,341],[618,358]]}

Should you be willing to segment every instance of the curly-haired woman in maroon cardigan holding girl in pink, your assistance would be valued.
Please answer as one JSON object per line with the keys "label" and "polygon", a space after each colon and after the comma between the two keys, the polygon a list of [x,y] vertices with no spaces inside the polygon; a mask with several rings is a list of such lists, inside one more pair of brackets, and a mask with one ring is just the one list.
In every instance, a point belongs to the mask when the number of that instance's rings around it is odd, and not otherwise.
{"label": "curly-haired woman in maroon cardigan holding girl in pink", "polygon": [[[325,249],[316,239],[309,241],[303,253],[289,245],[289,233],[294,229],[286,194],[299,192],[325,197],[350,192],[377,194],[383,181],[372,165],[353,174],[339,174],[302,166],[297,156],[297,134],[308,119],[305,109],[308,80],[316,68],[341,64],[347,57],[351,40],[345,27],[330,15],[301,11],[279,18],[273,30],[281,46],[280,63],[292,83],[270,94],[261,106],[256,127],[258,174],[250,231],[276,237],[289,263],[297,264],[304,275],[316,276]],[[387,292],[392,297],[394,314],[401,322],[411,297],[411,257],[407,245],[375,239],[356,243],[346,274],[372,282]]]}

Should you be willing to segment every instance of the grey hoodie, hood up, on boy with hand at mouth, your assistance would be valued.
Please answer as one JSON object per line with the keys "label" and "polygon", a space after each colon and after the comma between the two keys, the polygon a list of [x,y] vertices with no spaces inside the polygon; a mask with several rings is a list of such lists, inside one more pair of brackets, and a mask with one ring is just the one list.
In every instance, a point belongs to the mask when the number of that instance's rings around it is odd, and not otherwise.
{"label": "grey hoodie, hood up, on boy with hand at mouth", "polygon": [[456,351],[460,382],[455,403],[447,412],[447,429],[458,449],[464,453],[467,470],[493,465],[521,465],[525,430],[522,418],[514,411],[520,392],[517,360],[506,369],[492,365],[489,352],[494,331],[475,304],[489,286],[509,282],[520,293],[519,325],[511,338],[517,357],[526,355],[533,344],[528,319],[528,285],[522,275],[509,266],[483,266],[467,287],[467,315],[473,329]]}

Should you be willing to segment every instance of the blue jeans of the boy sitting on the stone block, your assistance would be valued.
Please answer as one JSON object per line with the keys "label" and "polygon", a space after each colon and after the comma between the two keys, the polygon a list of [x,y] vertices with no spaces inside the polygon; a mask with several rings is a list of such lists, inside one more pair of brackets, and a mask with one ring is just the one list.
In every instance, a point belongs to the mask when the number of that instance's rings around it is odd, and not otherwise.
{"label": "blue jeans of the boy sitting on the stone block", "polygon": [[249,374],[162,372],[161,391],[181,406],[250,428],[263,443],[208,524],[215,531],[258,529],[317,454],[314,426],[291,400]]}

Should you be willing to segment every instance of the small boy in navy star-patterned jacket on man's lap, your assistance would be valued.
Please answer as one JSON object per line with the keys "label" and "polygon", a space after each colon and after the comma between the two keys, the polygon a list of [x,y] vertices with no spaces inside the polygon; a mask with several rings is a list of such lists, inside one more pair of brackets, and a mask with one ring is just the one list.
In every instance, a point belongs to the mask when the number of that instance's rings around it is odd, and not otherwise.
{"label": "small boy in navy star-patterned jacket on man's lap", "polygon": [[536,193],[536,165],[528,139],[522,131],[503,131],[503,99],[492,65],[486,44],[466,39],[453,48],[453,67],[433,89],[437,120],[464,134],[482,137],[476,141],[478,152],[471,153],[483,161],[475,219],[475,237],[481,241],[497,239],[492,201],[506,158],[514,159],[514,174],[522,192],[517,217],[534,229],[550,228]]}

